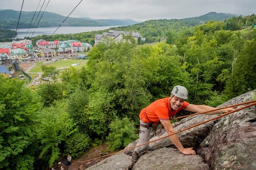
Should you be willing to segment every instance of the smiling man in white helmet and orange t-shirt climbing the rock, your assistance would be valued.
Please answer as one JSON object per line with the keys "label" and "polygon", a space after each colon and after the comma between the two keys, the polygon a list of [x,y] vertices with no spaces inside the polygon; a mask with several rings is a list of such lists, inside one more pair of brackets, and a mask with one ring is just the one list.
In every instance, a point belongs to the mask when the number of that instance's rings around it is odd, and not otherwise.
{"label": "smiling man in white helmet and orange t-shirt climbing the rock", "polygon": [[[168,135],[175,133],[170,119],[173,115],[178,113],[181,109],[185,109],[192,112],[204,112],[216,109],[206,105],[194,105],[186,102],[188,99],[188,90],[184,86],[175,86],[172,89],[171,95],[168,98],[162,98],[156,100],[148,107],[144,108],[140,112],[140,139],[137,146],[144,143],[148,143],[150,138],[154,135],[160,123],[166,129]],[[206,114],[220,114],[227,113],[234,110],[234,108],[226,108],[217,111],[208,112]],[[172,143],[182,152],[182,154],[196,154],[192,148],[184,148],[180,143],[178,136],[171,135],[170,140]],[[137,160],[140,152],[147,150],[147,145],[136,147],[132,154],[132,159]]]}

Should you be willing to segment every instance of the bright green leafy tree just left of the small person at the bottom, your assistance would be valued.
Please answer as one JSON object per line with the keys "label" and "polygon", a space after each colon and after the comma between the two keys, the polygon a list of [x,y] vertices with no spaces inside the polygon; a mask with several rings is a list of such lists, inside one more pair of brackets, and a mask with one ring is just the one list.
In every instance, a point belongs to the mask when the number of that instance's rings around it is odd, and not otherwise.
{"label": "bright green leafy tree just left of the small person at the bottom", "polygon": [[43,162],[48,162],[49,167],[60,158],[62,153],[60,146],[65,145],[68,137],[76,131],[65,111],[65,105],[65,102],[58,101],[54,106],[44,108],[39,113],[40,123],[37,128],[37,136],[40,140],[39,158]]}

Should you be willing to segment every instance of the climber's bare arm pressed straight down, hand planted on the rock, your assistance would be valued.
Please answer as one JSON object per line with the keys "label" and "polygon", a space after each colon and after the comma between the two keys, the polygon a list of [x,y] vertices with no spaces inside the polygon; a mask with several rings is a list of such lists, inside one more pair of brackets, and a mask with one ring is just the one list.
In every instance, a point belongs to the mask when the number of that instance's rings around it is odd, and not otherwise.
{"label": "climber's bare arm pressed straight down, hand planted on the rock", "polygon": [[[164,129],[166,129],[166,132],[168,133],[168,135],[175,133],[172,127],[172,123],[169,120],[160,120],[160,121],[162,125],[164,125]],[[178,150],[180,150],[180,152],[182,152],[183,154],[196,154],[196,152],[192,148],[184,148],[180,143],[178,136],[176,134],[169,136],[169,138],[172,141],[172,143],[178,148]]]}

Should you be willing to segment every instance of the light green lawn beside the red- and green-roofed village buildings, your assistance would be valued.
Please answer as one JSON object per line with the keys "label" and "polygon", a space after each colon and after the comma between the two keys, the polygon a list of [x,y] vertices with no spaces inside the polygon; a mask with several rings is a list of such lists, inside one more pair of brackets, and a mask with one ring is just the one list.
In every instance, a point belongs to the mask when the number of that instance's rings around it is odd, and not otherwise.
{"label": "light green lawn beside the red- and green-roofed village buildings", "polygon": [[[57,61],[56,63],[43,63],[43,62],[38,62],[36,63],[36,66],[34,66],[30,72],[42,72],[41,66],[46,65],[46,66],[54,66],[56,68],[63,68],[63,67],[68,67],[71,66],[71,64],[76,64],[79,63],[80,67],[84,66],[86,63],[86,60],[72,60],[72,59],[64,59]],[[75,67],[78,67],[75,66]]]}

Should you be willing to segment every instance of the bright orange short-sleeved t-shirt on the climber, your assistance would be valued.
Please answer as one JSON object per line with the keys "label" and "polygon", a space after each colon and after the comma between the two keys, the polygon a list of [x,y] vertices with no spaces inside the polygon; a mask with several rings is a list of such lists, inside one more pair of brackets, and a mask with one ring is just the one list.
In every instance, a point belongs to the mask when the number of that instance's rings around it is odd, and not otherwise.
{"label": "bright orange short-sleeved t-shirt on the climber", "polygon": [[[186,109],[189,105],[188,102],[184,101],[182,106],[177,110],[171,110],[170,97],[156,100],[148,107],[140,111],[140,119],[145,123],[157,123],[161,120],[170,120],[170,118],[178,113],[181,109]],[[146,112],[146,113],[145,113]]]}

